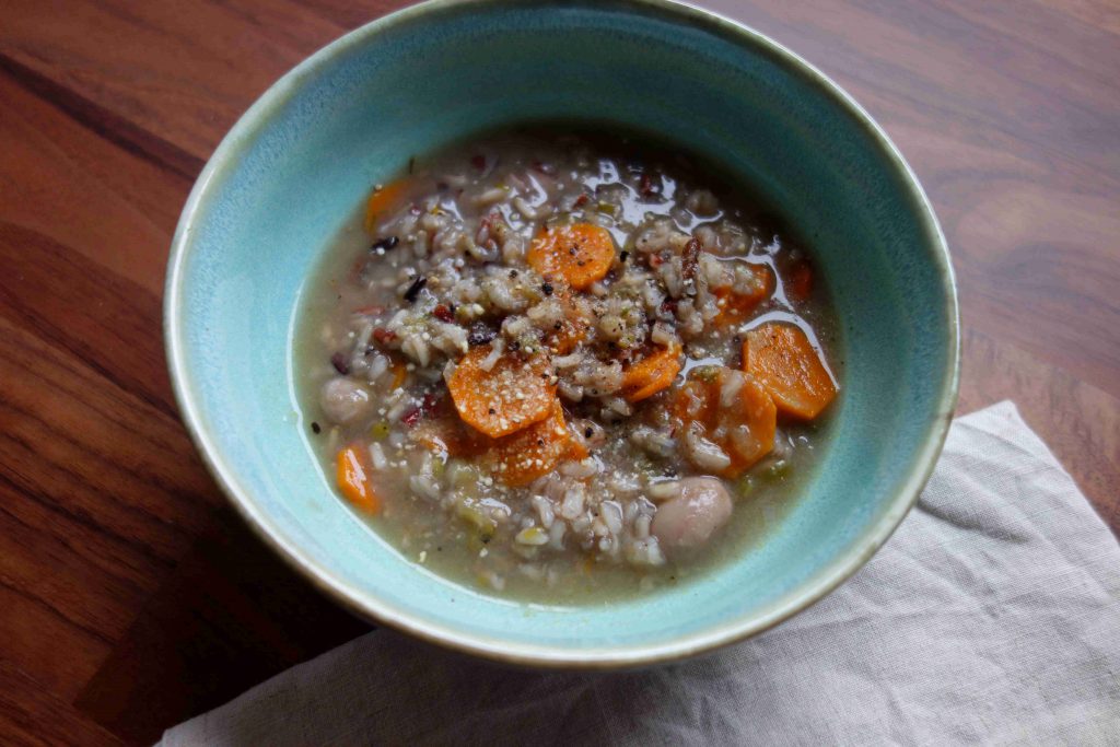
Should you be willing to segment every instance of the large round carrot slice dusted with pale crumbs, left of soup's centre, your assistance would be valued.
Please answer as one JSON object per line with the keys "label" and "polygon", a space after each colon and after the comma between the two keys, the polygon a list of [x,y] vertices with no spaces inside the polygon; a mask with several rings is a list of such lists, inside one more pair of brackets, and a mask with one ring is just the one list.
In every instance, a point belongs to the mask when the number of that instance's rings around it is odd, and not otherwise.
{"label": "large round carrot slice dusted with pale crumbs, left of soup's centre", "polygon": [[492,438],[548,418],[557,402],[557,385],[545,356],[522,360],[506,353],[486,371],[482,363],[489,353],[489,345],[472,348],[447,382],[459,417]]}

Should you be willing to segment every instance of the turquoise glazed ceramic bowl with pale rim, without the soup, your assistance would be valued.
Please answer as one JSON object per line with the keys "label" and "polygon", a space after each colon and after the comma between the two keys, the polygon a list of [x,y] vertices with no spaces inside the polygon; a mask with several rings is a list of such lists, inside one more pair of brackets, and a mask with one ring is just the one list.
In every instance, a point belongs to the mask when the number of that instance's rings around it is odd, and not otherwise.
{"label": "turquoise glazed ceramic bowl with pale rim, without the soup", "polygon": [[[805,494],[762,547],[635,600],[523,605],[405,560],[335,495],[293,398],[295,309],[328,240],[410,155],[503,123],[585,116],[688,143],[800,228],[843,323],[843,393]],[[958,372],[945,242],[883,131],[776,43],[653,0],[437,0],[310,57],[237,122],[195,185],[166,335],[199,451],[293,567],[370,619],[538,665],[685,656],[834,589],[914,503]]]}

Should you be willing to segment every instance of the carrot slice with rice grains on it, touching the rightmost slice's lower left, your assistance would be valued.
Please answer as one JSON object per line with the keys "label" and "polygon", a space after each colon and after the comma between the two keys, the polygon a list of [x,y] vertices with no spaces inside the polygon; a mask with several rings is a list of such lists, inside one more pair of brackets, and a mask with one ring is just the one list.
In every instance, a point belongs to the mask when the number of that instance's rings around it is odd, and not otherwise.
{"label": "carrot slice with rice grains on it, touching the rightmost slice's lower left", "polygon": [[725,407],[720,393],[731,370],[707,366],[694,373],[676,390],[670,411],[679,428],[699,423],[701,435],[730,458],[731,464],[718,473],[720,477],[738,477],[774,448],[774,402],[762,383],[744,374],[743,386]]}

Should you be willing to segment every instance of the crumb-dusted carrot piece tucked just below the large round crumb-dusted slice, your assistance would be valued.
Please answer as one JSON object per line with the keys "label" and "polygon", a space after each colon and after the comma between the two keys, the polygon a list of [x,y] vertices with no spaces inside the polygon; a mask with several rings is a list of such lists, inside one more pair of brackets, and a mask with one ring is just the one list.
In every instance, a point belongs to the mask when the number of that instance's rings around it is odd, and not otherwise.
{"label": "crumb-dusted carrot piece tucked just below the large round crumb-dusted slice", "polygon": [[582,459],[586,449],[571,437],[559,400],[544,420],[495,439],[485,457],[492,474],[506,485],[528,485],[564,459]]}

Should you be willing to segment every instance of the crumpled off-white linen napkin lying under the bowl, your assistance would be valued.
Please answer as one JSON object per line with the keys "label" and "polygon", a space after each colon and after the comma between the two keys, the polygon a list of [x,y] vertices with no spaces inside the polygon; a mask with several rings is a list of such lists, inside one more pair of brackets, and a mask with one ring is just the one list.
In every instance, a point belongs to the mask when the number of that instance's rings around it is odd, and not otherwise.
{"label": "crumpled off-white linen napkin lying under the bowl", "polygon": [[1010,402],[956,420],[887,545],[745,643],[539,673],[375,631],[179,745],[1120,744],[1120,548]]}

